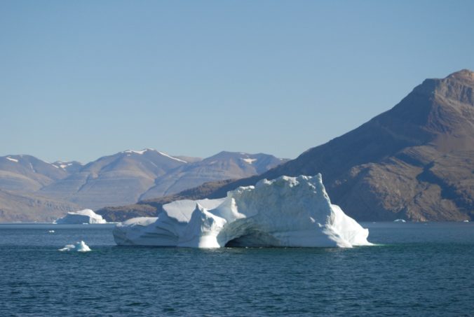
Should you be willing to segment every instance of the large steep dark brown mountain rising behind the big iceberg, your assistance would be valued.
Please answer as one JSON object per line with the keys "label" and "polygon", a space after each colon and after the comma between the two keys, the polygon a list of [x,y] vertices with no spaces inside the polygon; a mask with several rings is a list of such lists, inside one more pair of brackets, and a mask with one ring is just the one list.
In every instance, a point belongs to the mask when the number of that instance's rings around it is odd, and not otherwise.
{"label": "large steep dark brown mountain rising behind the big iceberg", "polygon": [[[473,90],[474,73],[466,69],[424,80],[390,111],[264,174],[140,205],[159,209],[176,198],[224,197],[262,178],[321,173],[332,202],[357,220],[472,220]],[[131,210],[114,212],[126,218]]]}

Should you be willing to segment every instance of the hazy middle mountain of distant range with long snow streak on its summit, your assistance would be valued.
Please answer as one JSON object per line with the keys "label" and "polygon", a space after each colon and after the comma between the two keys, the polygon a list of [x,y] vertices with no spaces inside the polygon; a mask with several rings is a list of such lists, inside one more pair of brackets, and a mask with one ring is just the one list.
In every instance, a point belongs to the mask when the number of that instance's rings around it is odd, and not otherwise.
{"label": "hazy middle mountain of distant range with long snow streak on its summit", "polygon": [[130,204],[154,186],[158,176],[182,164],[187,162],[156,150],[126,150],[100,157],[39,192],[90,209]]}

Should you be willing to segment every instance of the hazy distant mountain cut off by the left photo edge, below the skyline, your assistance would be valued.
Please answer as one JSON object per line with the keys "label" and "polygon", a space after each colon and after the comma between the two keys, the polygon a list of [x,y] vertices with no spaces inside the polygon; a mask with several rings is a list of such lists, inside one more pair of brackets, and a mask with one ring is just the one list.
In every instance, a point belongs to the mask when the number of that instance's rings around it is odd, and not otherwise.
{"label": "hazy distant mountain cut off by the left photo edge, below the skyline", "polygon": [[67,176],[67,171],[31,155],[0,157],[0,189],[34,192]]}

